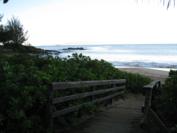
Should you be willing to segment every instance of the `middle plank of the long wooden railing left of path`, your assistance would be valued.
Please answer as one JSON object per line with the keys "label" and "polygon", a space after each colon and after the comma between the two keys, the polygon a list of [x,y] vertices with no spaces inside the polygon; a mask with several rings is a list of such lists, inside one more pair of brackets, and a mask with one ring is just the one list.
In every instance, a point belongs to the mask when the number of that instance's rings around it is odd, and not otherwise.
{"label": "middle plank of the long wooden railing left of path", "polygon": [[74,94],[74,95],[64,96],[64,97],[58,97],[58,98],[54,98],[52,103],[58,104],[58,103],[63,103],[63,102],[70,101],[70,100],[81,99],[81,98],[85,98],[85,97],[89,97],[89,96],[105,94],[107,92],[114,92],[114,91],[123,90],[123,89],[125,89],[125,86],[113,87],[113,88],[109,88],[109,89],[96,90],[96,91],[85,92],[85,93],[79,93],[79,94]]}

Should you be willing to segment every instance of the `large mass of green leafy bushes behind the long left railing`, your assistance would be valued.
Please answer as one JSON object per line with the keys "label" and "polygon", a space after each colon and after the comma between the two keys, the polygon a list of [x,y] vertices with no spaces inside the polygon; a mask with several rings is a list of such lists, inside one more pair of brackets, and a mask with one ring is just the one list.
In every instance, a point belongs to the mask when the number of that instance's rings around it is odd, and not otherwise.
{"label": "large mass of green leafy bushes behind the long left railing", "polygon": [[121,72],[104,60],[74,54],[69,58],[0,55],[0,132],[48,132],[48,87],[54,81],[126,78],[138,92],[149,78]]}

